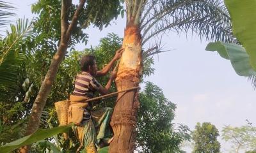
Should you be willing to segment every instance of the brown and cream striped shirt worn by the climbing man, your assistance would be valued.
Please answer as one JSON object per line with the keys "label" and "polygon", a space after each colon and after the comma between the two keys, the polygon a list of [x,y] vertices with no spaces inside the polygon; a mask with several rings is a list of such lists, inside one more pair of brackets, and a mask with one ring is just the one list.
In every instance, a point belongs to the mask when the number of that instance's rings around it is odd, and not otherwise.
{"label": "brown and cream striped shirt worn by the climbing man", "polygon": [[83,71],[81,74],[76,76],[75,90],[72,94],[76,96],[93,98],[94,92],[98,91],[99,89],[99,82],[97,82],[97,80],[92,77],[90,73]]}

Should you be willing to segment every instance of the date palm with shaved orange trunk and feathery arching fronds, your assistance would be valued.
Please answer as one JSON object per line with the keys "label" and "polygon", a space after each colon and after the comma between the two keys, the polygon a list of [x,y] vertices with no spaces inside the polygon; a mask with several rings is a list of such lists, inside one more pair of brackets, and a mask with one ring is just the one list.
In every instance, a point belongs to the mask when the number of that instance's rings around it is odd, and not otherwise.
{"label": "date palm with shaved orange trunk and feathery arching fronds", "polygon": [[[230,17],[220,0],[126,0],[125,4],[127,20],[124,52],[116,77],[118,91],[140,84],[143,57],[161,52],[159,43],[145,52],[142,48],[168,31],[233,41]],[[133,152],[139,106],[138,91],[118,94],[111,119],[114,138],[109,152]]]}

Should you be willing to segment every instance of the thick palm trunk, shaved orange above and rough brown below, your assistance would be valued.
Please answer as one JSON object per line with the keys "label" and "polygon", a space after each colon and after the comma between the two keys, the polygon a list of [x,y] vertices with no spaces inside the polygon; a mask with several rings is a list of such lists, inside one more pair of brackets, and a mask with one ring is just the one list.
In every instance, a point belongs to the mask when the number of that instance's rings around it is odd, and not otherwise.
{"label": "thick palm trunk, shaved orange above and rough brown below", "polygon": [[[141,72],[141,34],[138,24],[127,24],[123,41],[124,53],[120,59],[116,77],[118,91],[136,87],[140,83]],[[111,119],[114,139],[109,152],[131,153],[135,147],[138,90],[118,94]]]}

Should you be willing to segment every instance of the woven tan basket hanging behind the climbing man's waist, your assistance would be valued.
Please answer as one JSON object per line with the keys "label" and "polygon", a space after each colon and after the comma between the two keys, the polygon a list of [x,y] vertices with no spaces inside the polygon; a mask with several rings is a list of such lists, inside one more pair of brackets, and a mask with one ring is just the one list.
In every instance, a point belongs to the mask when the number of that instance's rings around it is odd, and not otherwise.
{"label": "woven tan basket hanging behind the climbing man's waist", "polygon": [[69,100],[58,101],[54,103],[60,126],[65,126],[68,124],[68,106],[70,105]]}

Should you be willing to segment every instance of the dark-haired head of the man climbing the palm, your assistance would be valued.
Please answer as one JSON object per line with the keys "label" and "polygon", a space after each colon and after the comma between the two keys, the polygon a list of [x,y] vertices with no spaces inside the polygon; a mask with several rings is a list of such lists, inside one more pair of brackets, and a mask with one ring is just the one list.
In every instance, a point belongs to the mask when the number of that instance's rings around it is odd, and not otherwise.
{"label": "dark-haired head of the man climbing the palm", "polygon": [[97,75],[98,67],[93,55],[84,55],[80,61],[82,71],[90,73],[92,76]]}

